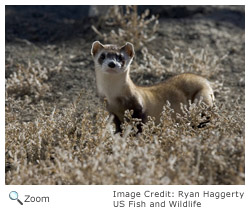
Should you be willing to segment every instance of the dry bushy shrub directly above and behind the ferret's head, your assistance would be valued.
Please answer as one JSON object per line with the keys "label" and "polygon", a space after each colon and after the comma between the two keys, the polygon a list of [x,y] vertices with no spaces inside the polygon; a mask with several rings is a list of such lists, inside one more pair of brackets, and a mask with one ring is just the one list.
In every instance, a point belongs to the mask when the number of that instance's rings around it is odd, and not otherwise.
{"label": "dry bushy shrub directly above and behind the ferret's head", "polygon": [[[135,50],[155,39],[159,23],[157,16],[150,17],[148,9],[138,15],[136,5],[112,6],[103,20],[105,29],[111,29],[110,33],[101,33],[95,26],[92,26],[92,29],[105,43],[122,45],[129,41],[134,44]],[[117,30],[114,30],[115,28]]]}

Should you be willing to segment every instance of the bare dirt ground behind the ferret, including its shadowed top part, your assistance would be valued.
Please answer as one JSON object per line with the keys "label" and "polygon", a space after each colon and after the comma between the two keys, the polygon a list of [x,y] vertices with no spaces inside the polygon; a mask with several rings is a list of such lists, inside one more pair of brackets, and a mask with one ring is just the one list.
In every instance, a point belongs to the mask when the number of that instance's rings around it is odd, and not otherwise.
{"label": "bare dirt ground behind the ferret, including its shadowed top part", "polygon": [[[96,92],[94,65],[90,56],[92,42],[101,41],[101,38],[91,28],[91,25],[98,22],[98,18],[88,17],[88,9],[87,6],[6,6],[6,82],[13,79],[20,65],[27,68],[29,62],[49,70],[43,80],[43,89],[37,90],[39,94],[42,92],[41,95],[36,97],[36,92],[18,93],[18,90],[7,92],[6,107],[10,106],[9,98],[22,103],[20,107],[13,106],[11,111],[19,122],[35,122],[42,109],[48,114],[55,107],[58,112],[63,112],[76,100],[80,100],[79,106],[90,112],[97,113],[98,108],[102,107]],[[220,62],[219,73],[208,78],[213,83],[219,81],[223,85],[221,89],[214,89],[217,101],[229,103],[237,100],[239,111],[244,116],[244,7],[152,6],[150,9],[152,14],[159,14],[156,39],[147,44],[151,53],[157,58],[165,56],[167,62],[172,61],[170,50],[175,47],[183,55],[187,55],[189,48],[197,51],[208,49],[210,56],[220,59],[226,55]],[[101,26],[99,30],[104,31]],[[141,56],[138,51],[136,61],[139,62]],[[139,82],[141,75],[131,76]],[[153,74],[143,78],[148,79],[149,83],[163,79]],[[45,91],[45,88],[48,90]],[[79,99],[80,94],[83,95]],[[243,126],[244,122],[241,124]],[[8,173],[13,166],[9,156],[6,158]],[[25,184],[13,178],[7,178],[6,183]]]}

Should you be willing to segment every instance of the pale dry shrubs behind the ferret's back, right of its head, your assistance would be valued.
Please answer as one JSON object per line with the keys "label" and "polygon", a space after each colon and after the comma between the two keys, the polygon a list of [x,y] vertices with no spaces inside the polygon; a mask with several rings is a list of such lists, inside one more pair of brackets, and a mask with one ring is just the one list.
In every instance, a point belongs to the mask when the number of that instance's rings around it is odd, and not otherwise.
{"label": "pale dry shrubs behind the ferret's back, right of its head", "polygon": [[142,58],[134,63],[135,73],[151,73],[157,77],[167,75],[177,75],[180,73],[194,73],[206,78],[212,78],[219,74],[222,69],[221,62],[226,58],[218,57],[210,52],[208,47],[201,50],[188,49],[187,53],[180,51],[179,47],[169,52],[172,59],[166,59],[165,56],[154,56],[149,53],[148,48],[142,48]]}

